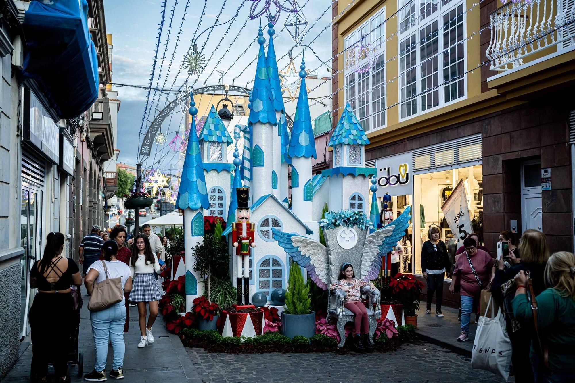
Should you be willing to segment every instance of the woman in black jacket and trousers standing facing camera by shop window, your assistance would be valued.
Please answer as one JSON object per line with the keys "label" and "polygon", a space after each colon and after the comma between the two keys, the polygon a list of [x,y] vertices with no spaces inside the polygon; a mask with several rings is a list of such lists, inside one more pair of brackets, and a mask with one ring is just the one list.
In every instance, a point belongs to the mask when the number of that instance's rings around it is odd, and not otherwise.
{"label": "woman in black jacket and trousers standing facing camera by shop window", "polygon": [[445,243],[439,240],[439,228],[430,227],[427,231],[427,237],[430,240],[425,241],[421,247],[421,271],[423,271],[423,277],[427,279],[427,307],[425,307],[425,312],[431,313],[431,301],[435,292],[435,316],[442,318],[444,316],[441,312],[443,280],[446,272],[448,278],[451,276],[451,261]]}

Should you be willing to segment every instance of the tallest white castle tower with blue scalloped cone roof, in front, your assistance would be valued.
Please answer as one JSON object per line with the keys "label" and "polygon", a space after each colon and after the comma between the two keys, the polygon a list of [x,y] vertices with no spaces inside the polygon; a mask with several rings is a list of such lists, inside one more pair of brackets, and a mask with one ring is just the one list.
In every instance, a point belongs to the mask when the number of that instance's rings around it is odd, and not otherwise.
{"label": "tallest white castle tower with blue scalloped cone roof, in front", "polygon": [[[260,25],[258,32],[258,67],[256,68],[254,89],[252,89],[250,95],[250,104],[248,104],[250,109],[248,125],[251,126],[252,130],[252,180],[250,193],[252,202],[257,201],[259,197],[272,193],[274,131],[275,135],[278,135],[277,128],[274,128],[278,124],[274,110],[274,96],[271,90],[266,56],[263,51],[265,42],[266,39],[263,37]],[[275,155],[279,158],[279,153],[275,153]]]}

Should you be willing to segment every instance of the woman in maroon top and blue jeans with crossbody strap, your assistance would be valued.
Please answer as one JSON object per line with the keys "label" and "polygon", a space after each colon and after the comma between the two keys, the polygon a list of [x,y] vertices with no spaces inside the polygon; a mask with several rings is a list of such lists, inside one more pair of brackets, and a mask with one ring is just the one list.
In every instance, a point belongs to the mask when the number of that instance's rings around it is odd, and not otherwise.
{"label": "woman in maroon top and blue jeans with crossbody strap", "polygon": [[449,291],[455,293],[455,286],[461,286],[461,335],[458,342],[469,340],[469,323],[471,312],[479,304],[481,290],[486,289],[489,284],[491,270],[493,268],[493,258],[477,248],[477,243],[473,238],[466,238],[463,241],[465,253],[455,261],[455,269],[451,278]]}

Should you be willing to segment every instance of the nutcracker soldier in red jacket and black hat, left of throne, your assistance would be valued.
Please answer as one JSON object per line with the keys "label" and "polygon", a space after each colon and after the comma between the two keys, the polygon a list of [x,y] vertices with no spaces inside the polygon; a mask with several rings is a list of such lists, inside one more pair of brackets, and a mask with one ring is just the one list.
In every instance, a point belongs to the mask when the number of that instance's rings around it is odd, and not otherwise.
{"label": "nutcracker soldier in red jacket and black hat, left of throne", "polygon": [[238,187],[237,193],[237,221],[232,223],[232,246],[236,248],[237,255],[237,304],[241,305],[241,281],[244,282],[244,305],[250,304],[250,247],[255,247],[255,225],[250,223],[250,208],[248,198],[250,189]]}

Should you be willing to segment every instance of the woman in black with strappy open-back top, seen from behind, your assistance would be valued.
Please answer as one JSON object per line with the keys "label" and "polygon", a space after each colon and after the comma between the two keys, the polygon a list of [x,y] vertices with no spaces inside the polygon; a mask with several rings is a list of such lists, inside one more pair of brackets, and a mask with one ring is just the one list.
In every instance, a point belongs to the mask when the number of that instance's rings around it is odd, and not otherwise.
{"label": "woman in black with strappy open-back top, seen from behind", "polygon": [[34,381],[47,381],[48,357],[54,362],[59,382],[69,382],[67,376],[68,339],[73,327],[74,306],[70,285],[81,285],[82,276],[72,259],[60,256],[64,250],[64,235],[49,233],[44,255],[30,270],[30,288],[38,289],[30,308],[32,328],[32,371]]}

